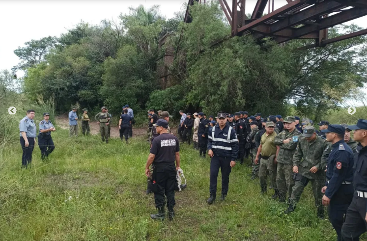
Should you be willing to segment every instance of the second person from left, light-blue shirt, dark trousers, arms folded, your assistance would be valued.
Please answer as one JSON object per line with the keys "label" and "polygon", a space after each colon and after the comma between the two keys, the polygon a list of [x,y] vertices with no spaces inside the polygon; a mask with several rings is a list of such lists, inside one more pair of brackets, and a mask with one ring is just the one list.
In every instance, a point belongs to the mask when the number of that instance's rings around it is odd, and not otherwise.
{"label": "second person from left, light-blue shirt, dark trousers, arms folded", "polygon": [[55,150],[51,132],[55,132],[56,129],[49,119],[50,113],[43,113],[43,121],[39,123],[38,146],[42,160],[45,160]]}

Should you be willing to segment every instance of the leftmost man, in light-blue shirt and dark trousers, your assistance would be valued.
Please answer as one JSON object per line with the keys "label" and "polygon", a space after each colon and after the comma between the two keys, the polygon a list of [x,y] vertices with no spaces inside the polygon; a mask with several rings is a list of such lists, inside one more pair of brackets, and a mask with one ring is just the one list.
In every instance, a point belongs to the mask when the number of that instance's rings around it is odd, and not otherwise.
{"label": "leftmost man, in light-blue shirt and dark trousers", "polygon": [[19,136],[23,150],[22,168],[27,168],[28,164],[32,162],[32,152],[36,142],[37,131],[33,121],[35,113],[33,109],[28,109],[26,117],[19,122]]}

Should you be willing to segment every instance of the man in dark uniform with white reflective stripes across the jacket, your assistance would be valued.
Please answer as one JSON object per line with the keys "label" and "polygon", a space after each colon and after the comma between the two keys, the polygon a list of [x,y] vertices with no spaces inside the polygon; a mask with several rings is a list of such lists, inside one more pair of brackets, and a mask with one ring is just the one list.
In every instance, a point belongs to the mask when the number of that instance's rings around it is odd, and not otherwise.
{"label": "man in dark uniform with white reflective stripes across the jacket", "polygon": [[210,161],[210,197],[206,201],[213,204],[217,196],[217,178],[219,168],[222,173],[221,201],[226,199],[228,192],[229,174],[236,165],[238,154],[238,140],[236,132],[226,123],[226,114],[219,113],[218,124],[210,128],[208,136],[208,155]]}

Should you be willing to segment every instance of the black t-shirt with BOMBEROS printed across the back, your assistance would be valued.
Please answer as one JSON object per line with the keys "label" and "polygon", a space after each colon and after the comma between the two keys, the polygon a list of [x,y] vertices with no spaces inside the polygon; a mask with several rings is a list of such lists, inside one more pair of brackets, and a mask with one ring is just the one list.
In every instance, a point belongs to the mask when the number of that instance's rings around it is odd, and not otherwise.
{"label": "black t-shirt with BOMBEROS printed across the back", "polygon": [[153,163],[174,163],[180,143],[176,136],[169,133],[160,134],[153,139],[150,153],[155,155]]}

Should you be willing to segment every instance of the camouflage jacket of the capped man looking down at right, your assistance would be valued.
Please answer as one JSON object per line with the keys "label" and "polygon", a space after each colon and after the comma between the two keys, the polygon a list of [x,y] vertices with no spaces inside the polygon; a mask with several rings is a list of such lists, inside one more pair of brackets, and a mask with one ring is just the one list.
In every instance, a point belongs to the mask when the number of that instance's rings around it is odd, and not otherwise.
{"label": "camouflage jacket of the capped man looking down at right", "polygon": [[[327,148],[328,145],[329,142],[318,135],[316,135],[315,140],[310,142],[305,137],[301,137],[293,155],[293,166],[298,166],[298,173],[309,179],[323,179],[325,172],[321,166],[321,159],[324,150],[327,149],[330,153],[330,148]],[[316,173],[310,172],[313,166],[318,169]]]}

